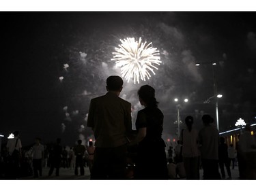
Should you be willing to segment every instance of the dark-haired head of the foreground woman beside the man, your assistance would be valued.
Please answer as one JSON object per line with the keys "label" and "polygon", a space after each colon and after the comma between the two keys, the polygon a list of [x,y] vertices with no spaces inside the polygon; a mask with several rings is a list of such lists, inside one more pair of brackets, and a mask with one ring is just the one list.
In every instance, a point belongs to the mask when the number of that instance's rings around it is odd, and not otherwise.
{"label": "dark-haired head of the foreground woman beside the man", "polygon": [[157,107],[158,102],[155,98],[155,89],[152,86],[144,85],[138,91],[139,101],[145,107]]}

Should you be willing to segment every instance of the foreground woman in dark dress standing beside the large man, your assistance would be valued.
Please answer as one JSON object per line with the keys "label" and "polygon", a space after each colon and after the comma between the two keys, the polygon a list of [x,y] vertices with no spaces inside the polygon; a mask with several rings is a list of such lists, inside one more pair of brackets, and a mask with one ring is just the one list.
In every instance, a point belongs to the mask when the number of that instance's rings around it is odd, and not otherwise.
{"label": "foreground woman in dark dress standing beside the large man", "polygon": [[137,137],[130,145],[138,144],[135,179],[169,179],[165,141],[162,139],[164,115],[158,109],[155,90],[152,86],[141,86],[139,101],[145,108],[138,111],[136,119]]}

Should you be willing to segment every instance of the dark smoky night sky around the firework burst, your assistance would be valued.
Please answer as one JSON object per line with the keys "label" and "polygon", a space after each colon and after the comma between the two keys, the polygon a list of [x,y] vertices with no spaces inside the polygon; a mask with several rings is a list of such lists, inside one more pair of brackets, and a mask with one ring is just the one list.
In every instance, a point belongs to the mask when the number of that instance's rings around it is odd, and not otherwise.
{"label": "dark smoky night sky around the firework burst", "polygon": [[195,63],[217,63],[220,131],[239,118],[255,122],[256,12],[0,12],[0,18],[5,139],[15,130],[23,145],[34,137],[43,143],[61,137],[63,145],[92,137],[89,101],[106,93],[106,77],[121,75],[111,58],[126,37],[152,42],[162,61],[150,80],[124,80],[120,97],[132,103],[133,120],[142,109],[137,90],[150,84],[165,115],[164,139],[175,137],[175,97],[189,99],[181,118],[191,115],[201,128],[203,114],[215,115],[214,100],[203,104],[214,94],[212,65]]}

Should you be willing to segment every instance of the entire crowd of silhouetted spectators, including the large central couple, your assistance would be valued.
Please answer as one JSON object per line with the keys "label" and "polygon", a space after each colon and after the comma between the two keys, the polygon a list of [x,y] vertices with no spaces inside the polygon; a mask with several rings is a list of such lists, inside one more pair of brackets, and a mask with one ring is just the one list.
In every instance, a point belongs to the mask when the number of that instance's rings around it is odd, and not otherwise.
{"label": "entire crowd of silhouetted spectators, including the large central couple", "polygon": [[139,88],[139,102],[144,108],[137,113],[134,131],[131,103],[119,97],[122,88],[122,78],[111,75],[106,80],[106,94],[91,99],[87,126],[94,131],[95,145],[89,141],[85,146],[78,140],[67,150],[59,138],[47,147],[35,138],[33,147],[24,151],[18,131],[14,132],[6,147],[6,177],[18,177],[20,158],[24,158],[27,172],[35,178],[42,176],[42,167],[49,167],[48,176],[54,170],[59,176],[60,167],[84,175],[86,161],[90,179],[200,179],[201,168],[203,179],[226,179],[225,169],[227,179],[232,179],[231,162],[233,169],[238,158],[240,179],[256,179],[256,138],[249,124],[235,149],[220,137],[210,115],[203,115],[200,130],[193,126],[193,116],[187,116],[174,152],[173,147],[166,152],[164,115],[158,108],[155,89],[149,85]]}

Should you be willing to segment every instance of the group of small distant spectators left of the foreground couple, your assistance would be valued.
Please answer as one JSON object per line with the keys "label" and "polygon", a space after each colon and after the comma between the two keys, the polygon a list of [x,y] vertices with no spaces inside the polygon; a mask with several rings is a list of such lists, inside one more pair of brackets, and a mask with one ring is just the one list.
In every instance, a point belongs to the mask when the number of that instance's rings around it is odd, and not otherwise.
{"label": "group of small distant spectators left of the foreground couple", "polygon": [[[55,171],[59,176],[59,169],[66,168],[74,171],[74,175],[84,175],[84,167],[89,167],[89,161],[94,158],[94,143],[89,141],[89,146],[81,145],[77,141],[74,147],[61,146],[61,139],[57,138],[56,143],[43,145],[39,137],[31,147],[22,149],[22,141],[19,132],[14,132],[14,139],[9,139],[6,150],[1,152],[0,179],[18,179],[20,177],[33,178],[42,177],[42,169],[48,168],[48,176]],[[81,147],[83,149],[81,150]],[[90,153],[90,157],[89,154]]]}

